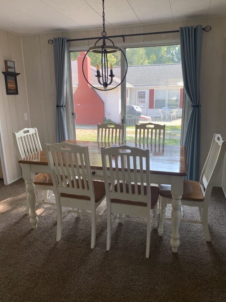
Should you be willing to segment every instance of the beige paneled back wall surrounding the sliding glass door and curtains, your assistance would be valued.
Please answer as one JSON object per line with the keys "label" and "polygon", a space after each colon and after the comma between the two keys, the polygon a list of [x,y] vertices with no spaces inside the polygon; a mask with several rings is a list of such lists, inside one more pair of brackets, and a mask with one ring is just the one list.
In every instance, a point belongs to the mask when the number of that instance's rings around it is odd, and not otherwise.
{"label": "beige paneled back wall surrounding the sliding glass door and curtains", "polygon": [[[226,95],[226,17],[190,19],[159,24],[107,28],[108,35],[141,32],[170,31],[186,25],[211,25],[212,31],[203,32],[201,63],[201,158],[200,170],[204,165],[213,134],[219,132],[226,138],[225,95]],[[42,146],[55,142],[55,74],[52,45],[53,37],[84,38],[101,36],[102,29],[55,32],[52,34],[27,35],[22,37],[25,74],[30,107],[31,126],[37,127]],[[161,44],[178,41],[179,34],[127,37],[125,46],[131,43]],[[122,43],[121,38],[113,39]],[[93,40],[72,42],[71,47],[93,45]],[[222,171],[221,171],[222,175]],[[221,185],[221,175],[216,185]]]}

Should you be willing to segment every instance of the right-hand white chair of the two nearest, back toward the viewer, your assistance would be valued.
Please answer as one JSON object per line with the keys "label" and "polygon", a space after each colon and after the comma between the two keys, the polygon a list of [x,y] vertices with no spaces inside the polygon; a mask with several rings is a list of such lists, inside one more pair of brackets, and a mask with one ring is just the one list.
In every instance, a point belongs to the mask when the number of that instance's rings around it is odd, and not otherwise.
{"label": "right-hand white chair of the two nearest, back toward the viewer", "polygon": [[[159,188],[150,186],[149,150],[126,145],[101,147],[101,157],[107,201],[107,250],[111,247],[111,213],[117,213],[118,216],[114,215],[112,223],[117,218],[119,221],[132,220],[147,223],[146,257],[148,258],[150,232],[152,227],[157,227],[156,205],[159,197]],[[137,170],[138,162],[139,170]],[[111,184],[115,184],[112,188],[108,186],[108,172]],[[144,185],[144,173],[147,185]],[[122,217],[122,214],[146,217],[147,220]]]}

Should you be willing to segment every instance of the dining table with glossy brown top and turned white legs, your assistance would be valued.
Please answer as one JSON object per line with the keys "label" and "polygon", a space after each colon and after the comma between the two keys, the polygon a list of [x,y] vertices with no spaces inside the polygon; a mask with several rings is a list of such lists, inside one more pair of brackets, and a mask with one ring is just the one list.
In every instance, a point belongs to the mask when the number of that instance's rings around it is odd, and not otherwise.
{"label": "dining table with glossy brown top and turned white legs", "polygon": [[[101,147],[124,145],[123,143],[105,143],[95,141],[67,140],[66,142],[87,146],[93,179],[103,180]],[[130,147],[149,149],[150,182],[155,184],[171,185],[172,233],[170,244],[172,252],[177,252],[180,245],[179,224],[181,219],[181,198],[183,194],[184,176],[187,175],[187,159],[185,146],[182,145],[154,145],[126,143]],[[22,175],[26,180],[27,199],[30,206],[30,223],[33,229],[37,228],[36,195],[34,177],[36,173],[50,173],[46,151],[42,150],[18,161],[22,168]],[[139,163],[137,165],[139,169]],[[145,182],[145,173],[144,173]]]}

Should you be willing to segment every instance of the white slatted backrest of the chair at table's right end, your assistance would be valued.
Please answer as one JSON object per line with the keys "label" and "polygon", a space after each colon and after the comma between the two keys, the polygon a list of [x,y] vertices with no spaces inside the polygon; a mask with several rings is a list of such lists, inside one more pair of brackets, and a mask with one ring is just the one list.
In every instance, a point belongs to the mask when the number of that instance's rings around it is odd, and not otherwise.
{"label": "white slatted backrest of the chair at table's right end", "polygon": [[215,133],[199,181],[204,196],[205,194],[211,194],[213,184],[224,158],[225,149],[226,141],[222,139],[220,134]]}

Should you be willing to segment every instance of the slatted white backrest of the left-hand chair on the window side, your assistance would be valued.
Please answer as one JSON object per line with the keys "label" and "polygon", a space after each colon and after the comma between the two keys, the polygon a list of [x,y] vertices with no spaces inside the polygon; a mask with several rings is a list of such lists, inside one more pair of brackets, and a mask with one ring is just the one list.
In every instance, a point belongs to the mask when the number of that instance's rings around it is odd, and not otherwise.
{"label": "slatted white backrest of the left-hand chair on the window side", "polygon": [[124,143],[125,125],[107,123],[97,124],[97,141]]}

